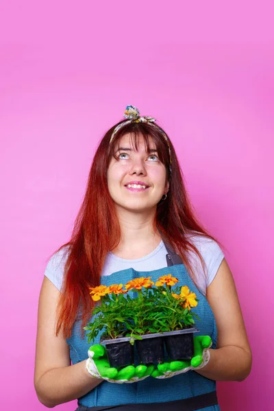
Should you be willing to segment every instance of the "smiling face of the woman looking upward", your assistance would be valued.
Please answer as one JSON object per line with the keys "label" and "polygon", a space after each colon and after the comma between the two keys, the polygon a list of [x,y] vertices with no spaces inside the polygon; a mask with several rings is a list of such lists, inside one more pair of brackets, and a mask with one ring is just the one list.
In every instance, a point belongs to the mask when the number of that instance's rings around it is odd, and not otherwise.
{"label": "smiling face of the woman looking upward", "polygon": [[132,212],[149,211],[169,190],[166,168],[158,158],[150,140],[150,153],[142,136],[138,151],[132,146],[130,134],[125,134],[116,146],[118,160],[112,158],[108,167],[108,189],[116,207]]}

